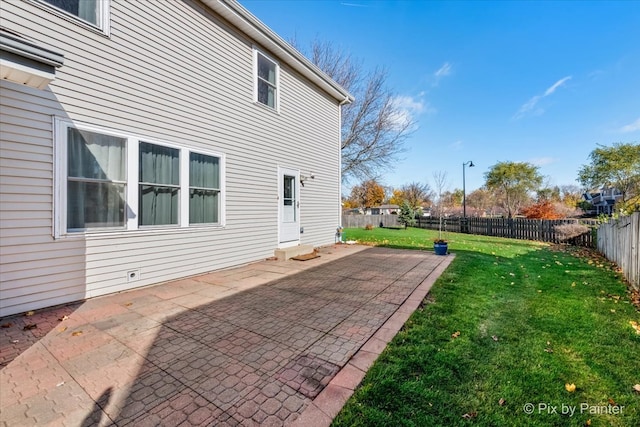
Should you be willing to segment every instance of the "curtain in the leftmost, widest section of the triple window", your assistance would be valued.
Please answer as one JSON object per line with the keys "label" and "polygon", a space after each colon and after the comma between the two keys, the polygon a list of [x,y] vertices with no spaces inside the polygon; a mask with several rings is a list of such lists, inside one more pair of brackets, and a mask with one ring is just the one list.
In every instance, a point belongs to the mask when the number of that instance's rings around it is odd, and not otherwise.
{"label": "curtain in the leftmost, widest section of the triple window", "polygon": [[67,229],[124,226],[125,159],[125,139],[68,129]]}

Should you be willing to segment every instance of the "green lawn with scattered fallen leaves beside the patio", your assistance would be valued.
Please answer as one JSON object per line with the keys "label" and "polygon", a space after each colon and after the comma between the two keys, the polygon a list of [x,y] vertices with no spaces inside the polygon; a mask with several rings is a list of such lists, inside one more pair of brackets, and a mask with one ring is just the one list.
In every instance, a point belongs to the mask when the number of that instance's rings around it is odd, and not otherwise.
{"label": "green lawn with scattered fallen leaves beside the patio", "polygon": [[[420,250],[435,237],[346,230]],[[640,314],[615,266],[586,250],[446,238],[456,259],[334,426],[640,426]]]}

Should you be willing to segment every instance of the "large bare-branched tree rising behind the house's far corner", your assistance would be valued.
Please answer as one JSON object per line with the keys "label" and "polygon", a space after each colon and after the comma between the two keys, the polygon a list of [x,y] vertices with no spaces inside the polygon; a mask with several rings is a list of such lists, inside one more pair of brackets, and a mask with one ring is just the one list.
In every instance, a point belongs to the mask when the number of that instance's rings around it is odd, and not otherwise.
{"label": "large bare-branched tree rising behind the house's far corner", "polygon": [[391,169],[415,122],[387,88],[386,71],[367,72],[350,54],[318,40],[312,42],[310,59],[355,97],[342,107],[343,181],[372,179]]}

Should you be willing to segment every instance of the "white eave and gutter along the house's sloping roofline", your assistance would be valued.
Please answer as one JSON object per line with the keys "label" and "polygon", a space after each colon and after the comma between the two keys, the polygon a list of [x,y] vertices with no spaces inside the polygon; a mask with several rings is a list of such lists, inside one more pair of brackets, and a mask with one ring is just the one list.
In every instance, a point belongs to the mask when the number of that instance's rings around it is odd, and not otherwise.
{"label": "white eave and gutter along the house's sloping roofline", "polygon": [[355,98],[346,89],[253,16],[236,0],[201,1],[338,101],[344,103],[354,101]]}

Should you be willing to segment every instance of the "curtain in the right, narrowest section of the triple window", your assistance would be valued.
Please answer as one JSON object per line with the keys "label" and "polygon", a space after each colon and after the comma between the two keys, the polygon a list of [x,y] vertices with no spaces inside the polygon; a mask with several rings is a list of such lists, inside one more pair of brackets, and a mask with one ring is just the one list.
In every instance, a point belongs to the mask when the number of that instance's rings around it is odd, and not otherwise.
{"label": "curtain in the right, narrowest section of the triple window", "polygon": [[189,187],[189,223],[217,223],[220,159],[204,154],[190,153]]}

